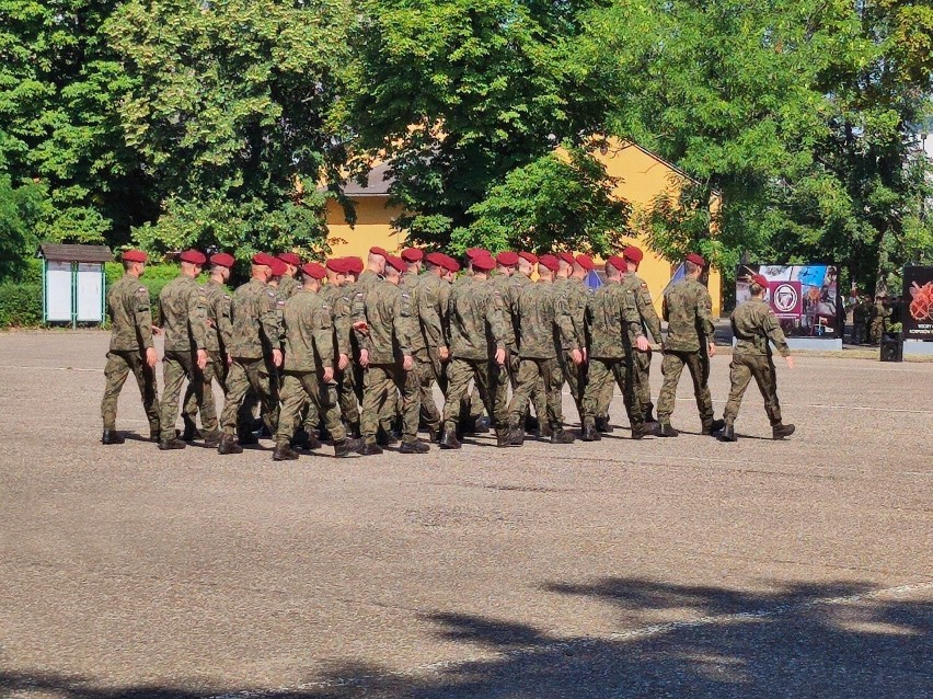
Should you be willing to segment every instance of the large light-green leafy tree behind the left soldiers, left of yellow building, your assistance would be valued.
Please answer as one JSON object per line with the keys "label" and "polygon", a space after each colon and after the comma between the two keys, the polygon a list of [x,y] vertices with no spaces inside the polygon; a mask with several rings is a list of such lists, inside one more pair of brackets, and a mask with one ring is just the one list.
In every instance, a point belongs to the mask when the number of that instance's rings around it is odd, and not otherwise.
{"label": "large light-green leafy tree behind the left soldiers, left of yellow building", "polygon": [[114,14],[131,80],[120,117],[162,207],[141,244],[326,248],[319,183],[343,161],[332,116],[349,18],[342,0],[131,0]]}

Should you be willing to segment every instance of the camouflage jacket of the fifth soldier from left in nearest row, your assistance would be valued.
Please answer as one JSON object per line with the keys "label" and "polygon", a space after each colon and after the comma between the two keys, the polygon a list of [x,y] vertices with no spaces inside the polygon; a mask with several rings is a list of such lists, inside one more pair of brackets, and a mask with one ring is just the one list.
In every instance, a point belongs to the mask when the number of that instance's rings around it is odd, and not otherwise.
{"label": "camouflage jacket of the fifth soldier from left in nearest row", "polygon": [[414,319],[407,290],[388,282],[373,285],[366,294],[365,313],[369,333],[361,347],[369,351],[370,364],[395,364],[411,356]]}

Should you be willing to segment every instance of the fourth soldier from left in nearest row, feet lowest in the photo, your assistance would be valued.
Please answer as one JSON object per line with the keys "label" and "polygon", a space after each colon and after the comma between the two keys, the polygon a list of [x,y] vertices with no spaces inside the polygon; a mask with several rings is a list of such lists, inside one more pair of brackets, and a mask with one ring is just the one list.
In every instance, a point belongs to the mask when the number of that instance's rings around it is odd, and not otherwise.
{"label": "fourth soldier from left in nearest row, feet lowest in the photo", "polygon": [[[315,413],[334,440],[334,456],[346,457],[360,447],[347,439],[341,422],[334,385],[334,329],[331,309],[321,297],[321,279],[326,272],[309,262],[301,267],[302,287],[285,305],[285,362],[283,364],[281,412],[275,433],[274,461],[298,458],[289,442],[302,405],[311,401]],[[346,359],[346,355],[343,355]]]}

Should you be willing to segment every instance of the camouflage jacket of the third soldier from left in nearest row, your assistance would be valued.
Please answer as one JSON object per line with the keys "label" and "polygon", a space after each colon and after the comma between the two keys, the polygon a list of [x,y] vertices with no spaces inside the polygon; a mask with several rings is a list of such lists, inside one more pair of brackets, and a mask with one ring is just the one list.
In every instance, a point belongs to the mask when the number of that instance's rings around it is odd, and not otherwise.
{"label": "camouflage jacket of the third soldier from left in nearest row", "polygon": [[258,279],[250,279],[233,295],[233,340],[230,356],[258,359],[281,346],[275,289]]}

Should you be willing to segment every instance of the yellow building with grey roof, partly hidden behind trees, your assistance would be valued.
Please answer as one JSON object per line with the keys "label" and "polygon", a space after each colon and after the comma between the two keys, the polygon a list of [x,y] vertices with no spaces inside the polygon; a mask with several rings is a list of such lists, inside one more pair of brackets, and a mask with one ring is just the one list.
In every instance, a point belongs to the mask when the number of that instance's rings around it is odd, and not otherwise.
{"label": "yellow building with grey roof, partly hidden behind trees", "polygon": [[[607,173],[619,180],[615,194],[632,205],[633,220],[637,219],[638,211],[650,207],[659,195],[667,193],[677,196],[681,184],[690,179],[686,172],[641,146],[614,138],[607,139],[603,148],[595,156],[603,163]],[[393,230],[391,225],[402,210],[389,206],[390,183],[385,180],[387,171],[388,167],[380,164],[369,173],[365,186],[355,182],[347,185],[345,194],[356,207],[357,220],[354,227],[347,224],[343,207],[334,202],[327,204],[327,227],[335,255],[366,259],[372,245],[380,245],[390,252],[404,248],[404,236]],[[715,205],[715,202],[712,203],[712,206]],[[677,264],[671,265],[670,261],[652,252],[638,239],[632,242],[645,252],[638,274],[647,283],[660,312],[661,293]],[[713,313],[718,316],[722,278],[717,270],[710,271],[709,286],[713,297]]]}

